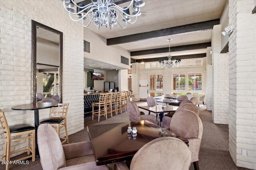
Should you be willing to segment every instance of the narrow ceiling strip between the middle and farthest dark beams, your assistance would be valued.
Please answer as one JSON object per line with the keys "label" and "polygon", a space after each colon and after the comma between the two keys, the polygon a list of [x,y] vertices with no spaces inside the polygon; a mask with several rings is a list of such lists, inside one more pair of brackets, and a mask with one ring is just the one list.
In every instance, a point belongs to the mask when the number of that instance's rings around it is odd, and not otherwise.
{"label": "narrow ceiling strip between the middle and farthest dark beams", "polygon": [[[187,51],[176,51],[171,52],[171,55],[176,58],[175,56],[180,55],[191,55],[191,54],[203,54],[206,53],[206,49],[196,49],[196,50],[187,50]],[[132,56],[131,58],[138,60],[138,59],[152,59],[158,57],[167,57],[169,53],[158,53],[158,54],[149,54],[149,55],[139,55],[139,56]]]}

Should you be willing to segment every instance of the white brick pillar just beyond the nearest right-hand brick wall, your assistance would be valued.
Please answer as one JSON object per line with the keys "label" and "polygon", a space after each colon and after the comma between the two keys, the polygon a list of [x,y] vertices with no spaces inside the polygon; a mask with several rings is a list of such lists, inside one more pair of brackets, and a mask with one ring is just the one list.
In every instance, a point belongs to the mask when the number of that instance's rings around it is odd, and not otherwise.
{"label": "white brick pillar just beyond the nearest right-hand brick wall", "polygon": [[228,124],[228,53],[221,51],[221,25],[212,29],[212,121]]}

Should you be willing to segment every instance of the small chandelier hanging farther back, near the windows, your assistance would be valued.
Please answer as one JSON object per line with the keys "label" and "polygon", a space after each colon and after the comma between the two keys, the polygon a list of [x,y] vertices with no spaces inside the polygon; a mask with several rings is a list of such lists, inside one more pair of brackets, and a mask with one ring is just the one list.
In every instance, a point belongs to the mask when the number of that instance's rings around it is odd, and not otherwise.
{"label": "small chandelier hanging farther back, near the windows", "polygon": [[[174,60],[172,58],[172,55],[171,55],[171,51],[170,51],[170,46],[171,46],[171,41],[172,39],[168,39],[167,41],[169,41],[169,55],[167,56],[167,60],[163,60],[163,59],[160,59],[159,60],[159,64],[164,68],[173,68],[173,67],[179,67],[180,66],[180,62],[181,62],[181,59],[176,59]],[[165,63],[164,63],[165,61]]]}

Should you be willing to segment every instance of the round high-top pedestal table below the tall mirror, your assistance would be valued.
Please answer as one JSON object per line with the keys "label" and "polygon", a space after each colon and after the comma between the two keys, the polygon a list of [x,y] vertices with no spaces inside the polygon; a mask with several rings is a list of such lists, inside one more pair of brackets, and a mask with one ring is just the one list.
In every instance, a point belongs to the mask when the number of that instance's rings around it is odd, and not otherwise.
{"label": "round high-top pedestal table below the tall mirror", "polygon": [[58,103],[32,103],[32,104],[22,104],[18,106],[13,106],[13,110],[34,110],[34,123],[36,128],[36,157],[39,156],[38,143],[37,143],[37,129],[39,126],[39,109],[46,109],[50,107],[58,106]]}

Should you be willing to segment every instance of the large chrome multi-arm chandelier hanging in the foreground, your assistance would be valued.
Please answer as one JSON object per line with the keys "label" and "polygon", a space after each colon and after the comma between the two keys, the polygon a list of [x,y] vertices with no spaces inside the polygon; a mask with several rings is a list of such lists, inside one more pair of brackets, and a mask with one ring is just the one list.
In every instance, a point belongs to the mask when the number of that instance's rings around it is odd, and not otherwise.
{"label": "large chrome multi-arm chandelier hanging in the foreground", "polygon": [[[113,30],[117,23],[122,28],[127,27],[127,23],[135,23],[137,17],[141,15],[140,8],[145,5],[142,0],[132,0],[130,5],[124,8],[116,5],[114,0],[97,0],[88,5],[76,4],[74,0],[63,0],[64,8],[69,12],[69,16],[73,21],[82,21],[84,27],[88,27],[91,22],[97,25],[99,30],[101,26],[105,25]],[[66,7],[68,6],[68,8]],[[130,6],[132,6],[132,15],[130,15]],[[73,9],[74,8],[74,9]],[[76,9],[77,12],[76,12]],[[80,15],[77,19],[71,17],[73,15]],[[130,18],[134,18],[132,21]],[[87,23],[84,23],[86,22]]]}

